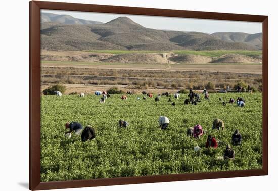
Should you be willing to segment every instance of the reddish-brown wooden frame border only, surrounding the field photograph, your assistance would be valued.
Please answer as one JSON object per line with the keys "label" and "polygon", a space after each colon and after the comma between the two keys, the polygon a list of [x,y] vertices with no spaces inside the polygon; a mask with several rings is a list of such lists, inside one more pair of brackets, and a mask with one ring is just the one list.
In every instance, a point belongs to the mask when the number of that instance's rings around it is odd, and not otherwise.
{"label": "reddish-brown wooden frame border only, surrounding the field photograph", "polygon": [[[262,74],[263,74],[263,133],[262,145],[263,168],[260,170],[221,171],[210,173],[190,173],[155,175],[124,178],[104,178],[91,180],[73,180],[58,182],[40,181],[40,10],[68,10],[99,13],[119,13],[150,16],[184,17],[197,19],[216,19],[231,21],[261,22],[263,31],[262,42]],[[184,8],[186,9],[186,8]],[[152,9],[107,5],[90,5],[77,3],[58,3],[31,1],[29,2],[29,189],[59,189],[90,186],[106,186],[120,184],[137,184],[151,182],[169,182],[198,180],[211,178],[228,178],[243,176],[259,176],[268,174],[268,16],[244,15],[230,13],[213,13],[199,11],[183,11],[168,9]]]}

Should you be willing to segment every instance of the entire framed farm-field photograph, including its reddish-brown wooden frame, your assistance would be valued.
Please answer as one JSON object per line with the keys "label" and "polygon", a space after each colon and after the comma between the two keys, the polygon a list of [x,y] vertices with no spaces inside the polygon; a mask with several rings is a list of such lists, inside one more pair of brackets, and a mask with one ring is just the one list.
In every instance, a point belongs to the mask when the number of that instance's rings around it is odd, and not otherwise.
{"label": "entire framed farm-field photograph, including its reddish-brown wooden frame", "polygon": [[267,16],[29,6],[29,189],[268,174]]}

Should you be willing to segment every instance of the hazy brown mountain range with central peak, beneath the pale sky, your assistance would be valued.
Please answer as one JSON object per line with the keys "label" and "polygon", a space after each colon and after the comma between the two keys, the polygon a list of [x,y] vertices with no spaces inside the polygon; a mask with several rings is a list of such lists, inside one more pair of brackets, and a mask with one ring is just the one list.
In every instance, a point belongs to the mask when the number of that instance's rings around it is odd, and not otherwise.
{"label": "hazy brown mountain range with central peak, beneath the pale sky", "polygon": [[[41,17],[41,49],[73,50],[258,50],[261,33],[201,33],[145,28],[128,17],[105,24],[69,15]],[[70,24],[73,23],[73,24]]]}

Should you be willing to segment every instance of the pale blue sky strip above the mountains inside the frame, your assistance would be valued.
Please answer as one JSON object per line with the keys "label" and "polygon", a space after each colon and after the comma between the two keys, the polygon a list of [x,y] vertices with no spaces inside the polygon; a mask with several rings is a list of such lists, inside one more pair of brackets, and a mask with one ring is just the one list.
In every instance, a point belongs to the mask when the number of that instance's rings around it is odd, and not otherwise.
{"label": "pale blue sky strip above the mountains inside the frame", "polygon": [[42,10],[42,12],[65,14],[78,19],[101,21],[106,23],[117,17],[126,16],[134,22],[153,29],[166,29],[177,31],[197,31],[205,33],[214,32],[245,32],[259,33],[262,32],[262,23],[259,22],[242,22],[242,21],[222,21],[209,19],[189,19],[176,17],[158,17],[110,13],[92,13],[78,11],[60,11],[60,10]]}

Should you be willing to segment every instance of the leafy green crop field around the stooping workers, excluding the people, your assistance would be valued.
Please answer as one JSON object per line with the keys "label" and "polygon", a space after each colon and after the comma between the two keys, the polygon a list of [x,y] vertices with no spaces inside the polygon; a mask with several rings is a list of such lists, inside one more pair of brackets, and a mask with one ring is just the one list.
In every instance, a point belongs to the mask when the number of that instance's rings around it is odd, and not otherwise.
{"label": "leafy green crop field around the stooping workers, excluding the people", "polygon": [[[172,100],[161,97],[136,100],[137,95],[121,100],[112,95],[105,104],[100,97],[86,95],[52,95],[41,97],[41,181],[61,181],[92,178],[144,176],[177,173],[196,173],[262,168],[262,94],[210,94],[211,101],[203,99],[195,105],[183,105],[187,95]],[[219,97],[241,96],[244,108],[236,104],[222,106]],[[158,117],[167,116],[170,125],[163,131]],[[225,122],[221,133],[212,130],[212,121]],[[119,119],[129,122],[119,128]],[[96,138],[81,142],[80,136],[66,138],[65,123],[80,122],[92,125]],[[207,132],[197,140],[187,137],[187,128],[201,124]],[[233,146],[235,160],[221,160],[231,134],[239,129],[241,146]],[[208,134],[221,141],[217,149],[204,147]],[[201,150],[194,151],[199,145]]]}

